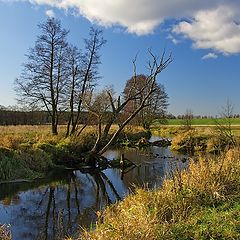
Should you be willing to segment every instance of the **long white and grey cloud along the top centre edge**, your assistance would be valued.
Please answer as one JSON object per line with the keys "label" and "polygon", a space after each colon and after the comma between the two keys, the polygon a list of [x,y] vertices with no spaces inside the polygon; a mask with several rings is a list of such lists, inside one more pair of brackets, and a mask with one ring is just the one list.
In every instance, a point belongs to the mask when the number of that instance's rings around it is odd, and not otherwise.
{"label": "long white and grey cloud along the top centre edge", "polygon": [[[17,0],[16,0],[17,1]],[[19,0],[18,0],[19,1]],[[21,0],[20,0],[21,1]],[[92,22],[104,26],[120,25],[128,32],[148,34],[165,19],[192,16],[199,9],[216,6],[219,0],[22,0],[74,9]],[[227,1],[227,0],[221,0]],[[234,0],[228,0],[232,2]],[[210,2],[210,3],[209,3]]]}

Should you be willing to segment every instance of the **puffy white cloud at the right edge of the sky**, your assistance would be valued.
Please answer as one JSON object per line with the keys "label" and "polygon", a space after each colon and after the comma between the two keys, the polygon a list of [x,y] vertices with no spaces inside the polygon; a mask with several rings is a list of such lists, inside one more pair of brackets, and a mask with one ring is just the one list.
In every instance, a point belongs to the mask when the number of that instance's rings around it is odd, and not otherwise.
{"label": "puffy white cloud at the right edge of the sky", "polygon": [[194,18],[182,21],[173,28],[193,41],[193,47],[214,49],[223,54],[240,53],[239,10],[221,6],[196,13]]}

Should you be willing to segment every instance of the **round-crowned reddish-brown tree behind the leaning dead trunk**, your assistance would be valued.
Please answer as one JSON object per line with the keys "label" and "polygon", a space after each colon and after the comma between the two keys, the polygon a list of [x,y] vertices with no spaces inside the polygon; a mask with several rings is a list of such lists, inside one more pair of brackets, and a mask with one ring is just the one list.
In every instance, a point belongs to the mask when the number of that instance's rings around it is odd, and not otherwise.
{"label": "round-crowned reddish-brown tree behind the leaning dead trunk", "polygon": [[[131,96],[134,96],[137,92],[140,92],[139,96],[129,101],[124,114],[126,116],[131,115],[136,108],[138,108],[139,104],[141,104],[142,100],[148,93],[151,86],[147,84],[148,77],[141,74],[135,75],[130,78],[124,89],[124,98],[128,99]],[[166,110],[168,107],[168,95],[165,91],[165,88],[162,84],[154,83],[154,92],[146,101],[146,106],[137,114],[134,121],[138,125],[142,125],[145,129],[149,130],[152,121],[156,118],[164,118],[166,115]],[[143,89],[143,91],[141,91]]]}

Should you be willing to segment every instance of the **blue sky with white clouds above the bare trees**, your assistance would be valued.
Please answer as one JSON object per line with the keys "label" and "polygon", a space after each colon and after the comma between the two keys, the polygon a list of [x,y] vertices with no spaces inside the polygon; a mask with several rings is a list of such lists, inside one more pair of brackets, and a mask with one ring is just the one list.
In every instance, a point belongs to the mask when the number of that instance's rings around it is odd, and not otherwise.
{"label": "blue sky with white clouds above the bare trees", "polygon": [[147,49],[160,55],[166,48],[174,61],[158,81],[169,95],[169,112],[216,115],[229,100],[240,113],[240,3],[168,2],[0,0],[0,105],[16,104],[14,79],[34,46],[38,23],[49,15],[62,21],[69,41],[79,47],[92,25],[103,28],[107,44],[99,87],[113,85],[120,93],[137,53],[138,72],[145,73]]}

